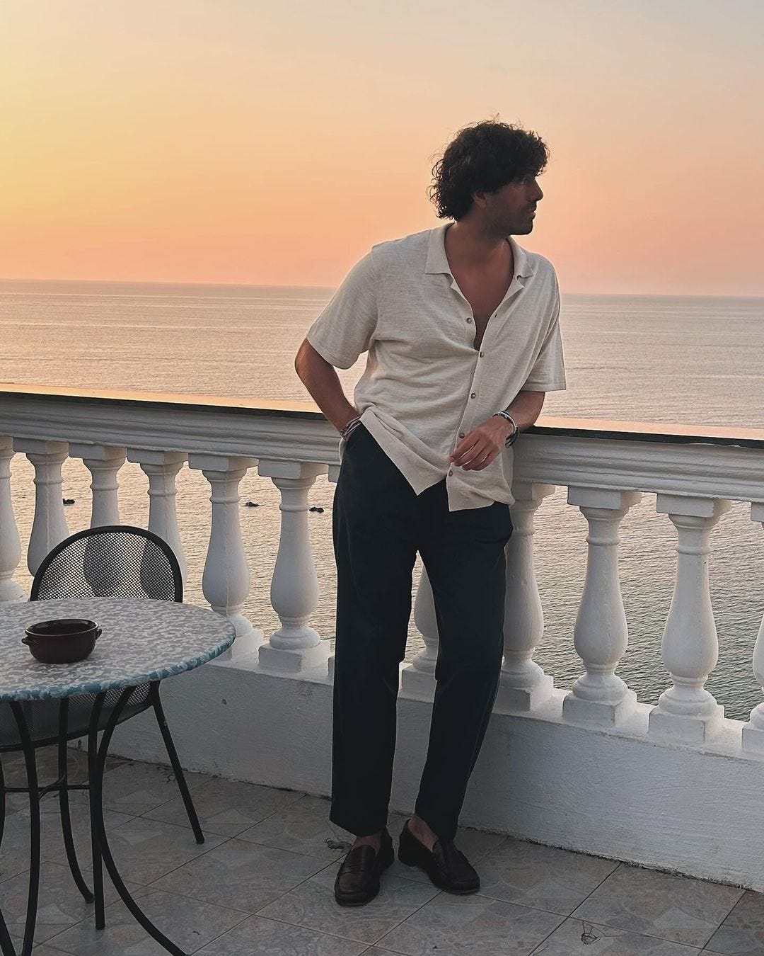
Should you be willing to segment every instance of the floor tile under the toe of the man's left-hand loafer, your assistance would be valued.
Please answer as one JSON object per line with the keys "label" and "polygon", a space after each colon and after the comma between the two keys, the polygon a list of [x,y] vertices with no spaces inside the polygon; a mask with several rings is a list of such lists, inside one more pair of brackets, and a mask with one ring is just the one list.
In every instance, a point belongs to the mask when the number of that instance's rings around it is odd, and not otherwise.
{"label": "floor tile under the toe of the man's left-hand loafer", "polygon": [[335,876],[335,868],[329,867],[265,906],[258,915],[370,944],[438,892],[435,886],[400,880],[386,873],[379,894],[371,902],[364,906],[340,906],[334,900]]}

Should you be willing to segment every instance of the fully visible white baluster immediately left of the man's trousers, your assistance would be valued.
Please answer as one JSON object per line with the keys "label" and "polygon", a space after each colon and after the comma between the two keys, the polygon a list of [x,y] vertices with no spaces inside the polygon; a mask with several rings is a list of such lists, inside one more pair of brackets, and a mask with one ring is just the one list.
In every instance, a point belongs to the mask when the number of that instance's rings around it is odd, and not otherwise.
{"label": "fully visible white baluster immediately left of the man's trousers", "polygon": [[264,461],[258,473],[281,491],[281,535],[270,585],[270,602],[282,626],[260,648],[267,670],[296,673],[326,666],[329,641],[322,641],[308,619],[318,604],[318,576],[310,547],[308,491],[327,466],[315,462]]}

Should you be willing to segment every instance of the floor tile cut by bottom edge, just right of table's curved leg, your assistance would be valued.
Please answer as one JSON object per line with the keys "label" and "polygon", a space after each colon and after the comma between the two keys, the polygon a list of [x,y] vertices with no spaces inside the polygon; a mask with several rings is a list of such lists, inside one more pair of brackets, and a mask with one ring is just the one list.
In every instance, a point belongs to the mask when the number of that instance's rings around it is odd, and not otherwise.
{"label": "floor tile cut by bottom edge, just right of table's curved leg", "polygon": [[341,940],[302,926],[250,916],[235,929],[210,943],[200,956],[360,956],[365,943]]}

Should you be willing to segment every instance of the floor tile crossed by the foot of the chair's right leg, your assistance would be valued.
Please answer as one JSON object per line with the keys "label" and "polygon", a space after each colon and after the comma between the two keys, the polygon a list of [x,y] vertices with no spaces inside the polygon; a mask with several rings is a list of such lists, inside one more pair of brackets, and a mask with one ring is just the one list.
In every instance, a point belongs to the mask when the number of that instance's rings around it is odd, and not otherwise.
{"label": "floor tile crossed by the foot of the chair's right leg", "polygon": [[[237,836],[303,795],[240,780],[224,780],[223,777],[212,777],[193,791],[202,831],[221,836]],[[145,815],[152,820],[190,826],[180,796]]]}

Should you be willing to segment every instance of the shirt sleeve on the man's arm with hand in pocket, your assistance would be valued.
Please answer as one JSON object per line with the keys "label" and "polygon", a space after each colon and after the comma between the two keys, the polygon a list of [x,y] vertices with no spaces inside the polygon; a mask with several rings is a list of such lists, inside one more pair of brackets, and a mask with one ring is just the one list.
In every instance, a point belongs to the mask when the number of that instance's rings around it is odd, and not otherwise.
{"label": "shirt sleeve on the man's arm with hand in pocket", "polygon": [[370,252],[350,270],[329,305],[308,329],[306,338],[330,365],[350,368],[362,352],[369,350],[376,322]]}

